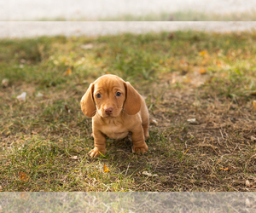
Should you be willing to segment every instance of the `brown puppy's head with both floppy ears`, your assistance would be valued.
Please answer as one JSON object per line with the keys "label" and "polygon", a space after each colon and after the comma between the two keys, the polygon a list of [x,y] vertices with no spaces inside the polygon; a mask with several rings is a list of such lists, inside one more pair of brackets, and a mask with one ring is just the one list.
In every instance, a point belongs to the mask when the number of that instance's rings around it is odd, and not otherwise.
{"label": "brown puppy's head with both floppy ears", "polygon": [[104,75],[90,87],[81,100],[84,115],[93,117],[96,112],[102,118],[118,117],[124,111],[134,115],[140,111],[141,97],[129,82],[114,75]]}

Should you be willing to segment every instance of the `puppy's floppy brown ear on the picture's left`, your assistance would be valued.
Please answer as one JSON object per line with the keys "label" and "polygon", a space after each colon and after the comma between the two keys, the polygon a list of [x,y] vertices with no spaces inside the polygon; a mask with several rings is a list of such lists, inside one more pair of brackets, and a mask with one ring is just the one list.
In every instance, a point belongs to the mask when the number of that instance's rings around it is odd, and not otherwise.
{"label": "puppy's floppy brown ear on the picture's left", "polygon": [[87,117],[94,117],[96,114],[96,106],[93,100],[94,84],[90,83],[90,87],[81,99],[81,109]]}

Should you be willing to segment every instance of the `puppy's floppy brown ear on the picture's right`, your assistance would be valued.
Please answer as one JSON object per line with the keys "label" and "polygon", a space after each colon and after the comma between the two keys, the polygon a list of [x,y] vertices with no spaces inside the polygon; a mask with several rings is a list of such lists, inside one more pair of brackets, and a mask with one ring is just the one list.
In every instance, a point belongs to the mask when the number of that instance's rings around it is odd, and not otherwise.
{"label": "puppy's floppy brown ear on the picture's right", "polygon": [[141,109],[141,95],[129,82],[125,82],[126,99],[124,104],[125,112],[128,115],[135,115]]}

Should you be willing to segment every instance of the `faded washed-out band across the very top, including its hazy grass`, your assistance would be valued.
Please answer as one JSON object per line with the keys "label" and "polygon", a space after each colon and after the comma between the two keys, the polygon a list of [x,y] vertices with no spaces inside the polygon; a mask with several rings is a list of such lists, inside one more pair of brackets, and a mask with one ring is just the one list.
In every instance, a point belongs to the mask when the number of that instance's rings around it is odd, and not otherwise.
{"label": "faded washed-out band across the very top, including its hazy grass", "polygon": [[1,0],[0,20],[256,20],[255,0]]}

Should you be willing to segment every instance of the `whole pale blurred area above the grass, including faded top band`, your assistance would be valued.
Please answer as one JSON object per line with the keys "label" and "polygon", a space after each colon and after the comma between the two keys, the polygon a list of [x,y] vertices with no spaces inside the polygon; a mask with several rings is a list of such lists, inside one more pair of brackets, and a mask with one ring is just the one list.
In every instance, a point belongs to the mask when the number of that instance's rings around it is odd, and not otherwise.
{"label": "whole pale blurred area above the grass, including faded top band", "polygon": [[248,31],[255,9],[256,0],[0,0],[0,37]]}

